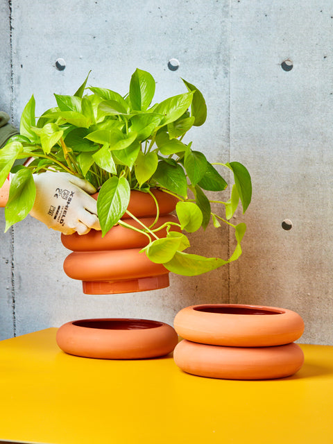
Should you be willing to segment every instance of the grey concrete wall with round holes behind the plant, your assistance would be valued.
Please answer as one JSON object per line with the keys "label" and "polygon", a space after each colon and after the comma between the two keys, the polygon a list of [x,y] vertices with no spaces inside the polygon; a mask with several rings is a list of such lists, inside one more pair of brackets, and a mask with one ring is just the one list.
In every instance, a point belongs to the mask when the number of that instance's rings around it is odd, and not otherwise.
{"label": "grey concrete wall with round holes behind the plant", "polygon": [[[89,69],[90,84],[123,94],[135,68],[146,69],[157,100],[184,92],[182,77],[207,101],[194,146],[211,161],[246,164],[254,193],[238,262],[144,293],[83,295],[62,271],[59,234],[28,217],[0,234],[0,337],[83,317],[172,323],[187,305],[242,302],[294,309],[305,319],[303,342],[333,344],[332,17],[328,0],[3,0],[0,108],[16,124],[31,94],[42,112]],[[227,257],[232,233],[215,231],[191,243]]]}

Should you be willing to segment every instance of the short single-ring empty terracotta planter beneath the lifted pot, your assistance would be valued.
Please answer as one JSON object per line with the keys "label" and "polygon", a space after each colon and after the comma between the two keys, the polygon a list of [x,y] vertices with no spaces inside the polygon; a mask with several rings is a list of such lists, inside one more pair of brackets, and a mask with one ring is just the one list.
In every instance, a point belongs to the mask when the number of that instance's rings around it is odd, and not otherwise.
{"label": "short single-ring empty terracotta planter beneath the lifted pot", "polygon": [[147,319],[83,319],[62,325],[56,336],[70,355],[99,359],[144,359],[172,352],[178,335],[171,325]]}

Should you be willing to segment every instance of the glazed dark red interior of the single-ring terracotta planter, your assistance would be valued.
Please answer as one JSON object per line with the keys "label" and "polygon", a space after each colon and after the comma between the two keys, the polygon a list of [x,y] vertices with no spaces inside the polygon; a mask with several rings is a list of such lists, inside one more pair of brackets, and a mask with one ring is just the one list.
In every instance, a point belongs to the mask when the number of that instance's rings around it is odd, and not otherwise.
{"label": "glazed dark red interior of the single-ring terracotta planter", "polygon": [[160,327],[162,323],[147,319],[83,319],[74,321],[73,325],[100,330],[144,330]]}

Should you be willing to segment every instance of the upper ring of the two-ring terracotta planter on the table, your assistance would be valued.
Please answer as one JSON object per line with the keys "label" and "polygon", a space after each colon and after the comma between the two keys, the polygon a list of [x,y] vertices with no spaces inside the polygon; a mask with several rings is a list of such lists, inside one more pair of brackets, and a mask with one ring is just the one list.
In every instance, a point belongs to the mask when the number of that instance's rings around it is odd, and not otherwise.
{"label": "upper ring of the two-ring terracotta planter on the table", "polygon": [[289,309],[259,305],[191,305],[173,323],[184,339],[231,347],[269,347],[296,341],[304,322]]}

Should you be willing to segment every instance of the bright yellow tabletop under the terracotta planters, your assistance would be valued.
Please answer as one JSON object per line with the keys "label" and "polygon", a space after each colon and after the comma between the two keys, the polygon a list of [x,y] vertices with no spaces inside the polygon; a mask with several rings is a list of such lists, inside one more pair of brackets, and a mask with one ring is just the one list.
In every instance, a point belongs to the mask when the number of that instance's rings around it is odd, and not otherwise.
{"label": "bright yellow tabletop under the terracotta planters", "polygon": [[302,345],[293,377],[187,375],[172,357],[65,355],[56,328],[0,342],[0,441],[57,444],[333,443],[333,347]]}

